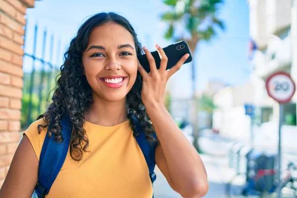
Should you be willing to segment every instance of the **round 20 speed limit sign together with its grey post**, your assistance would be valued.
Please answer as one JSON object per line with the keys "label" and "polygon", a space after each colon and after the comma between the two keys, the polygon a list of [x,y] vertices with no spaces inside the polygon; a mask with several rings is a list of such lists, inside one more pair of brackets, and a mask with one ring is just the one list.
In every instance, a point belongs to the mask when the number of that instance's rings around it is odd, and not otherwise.
{"label": "round 20 speed limit sign together with its grey post", "polygon": [[289,102],[296,91],[296,86],[291,76],[286,72],[276,72],[271,74],[266,81],[268,95],[279,103],[279,144],[278,144],[278,195],[281,198],[281,131],[284,115],[284,103]]}

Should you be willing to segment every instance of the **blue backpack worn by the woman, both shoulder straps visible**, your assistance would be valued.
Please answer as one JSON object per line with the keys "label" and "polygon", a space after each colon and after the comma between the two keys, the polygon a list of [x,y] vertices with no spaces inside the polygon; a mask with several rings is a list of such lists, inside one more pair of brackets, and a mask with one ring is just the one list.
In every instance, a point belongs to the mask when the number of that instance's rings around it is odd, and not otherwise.
{"label": "blue backpack worn by the woman, both shoulder straps visible", "polygon": [[[156,175],[154,173],[155,146],[149,145],[146,140],[145,133],[141,131],[139,127],[138,120],[135,117],[133,117],[133,119],[136,121],[137,130],[140,132],[139,136],[136,137],[136,141],[145,156],[148,164],[150,181],[153,183],[156,180]],[[61,120],[61,126],[61,133],[64,139],[63,142],[57,143],[54,141],[54,136],[49,138],[49,136],[46,135],[45,142],[41,150],[38,169],[38,183],[35,187],[35,192],[38,198],[45,198],[45,196],[49,193],[50,187],[57,177],[68,152],[72,133],[72,124],[67,118],[63,117]]]}

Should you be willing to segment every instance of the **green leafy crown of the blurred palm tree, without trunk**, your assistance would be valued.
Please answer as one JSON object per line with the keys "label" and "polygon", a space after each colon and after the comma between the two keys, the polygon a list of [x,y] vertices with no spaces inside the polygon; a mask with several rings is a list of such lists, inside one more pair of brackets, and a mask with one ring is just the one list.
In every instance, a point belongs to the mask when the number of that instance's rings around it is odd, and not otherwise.
{"label": "green leafy crown of the blurred palm tree, without trunk", "polygon": [[171,6],[171,11],[161,15],[161,20],[169,26],[165,32],[166,39],[174,38],[174,29],[183,25],[191,35],[193,49],[200,40],[210,40],[219,29],[225,30],[225,23],[217,18],[219,5],[224,0],[184,0],[183,10],[176,10],[179,0],[163,0],[164,4]]}

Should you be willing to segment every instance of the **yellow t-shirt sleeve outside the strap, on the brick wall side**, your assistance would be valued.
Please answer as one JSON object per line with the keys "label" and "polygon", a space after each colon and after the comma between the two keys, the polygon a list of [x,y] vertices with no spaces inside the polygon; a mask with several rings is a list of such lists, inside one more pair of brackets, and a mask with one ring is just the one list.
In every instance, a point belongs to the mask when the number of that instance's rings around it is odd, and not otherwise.
{"label": "yellow t-shirt sleeve outside the strap, on the brick wall side", "polygon": [[45,137],[47,135],[47,130],[48,127],[43,128],[40,127],[41,129],[41,133],[38,133],[38,125],[45,125],[45,121],[43,119],[37,120],[35,122],[33,122],[26,131],[23,132],[23,136],[26,135],[28,137],[28,139],[31,142],[31,145],[35,151],[35,154],[38,158],[40,158],[40,153],[41,153],[41,149],[43,146],[43,143],[45,141]]}

